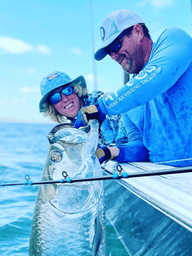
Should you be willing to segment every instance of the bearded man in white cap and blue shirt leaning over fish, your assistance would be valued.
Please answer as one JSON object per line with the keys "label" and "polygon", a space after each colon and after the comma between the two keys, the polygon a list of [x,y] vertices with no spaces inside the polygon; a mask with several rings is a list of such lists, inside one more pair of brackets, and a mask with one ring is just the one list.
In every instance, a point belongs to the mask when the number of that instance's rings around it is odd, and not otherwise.
{"label": "bearded man in white cap and blue shirt leaning over fish", "polygon": [[[178,28],[166,29],[154,43],[140,16],[130,10],[107,15],[100,27],[103,41],[95,59],[106,55],[133,78],[98,104],[80,111],[76,127],[99,114],[123,113],[128,143],[101,148],[103,161],[163,162],[192,165],[192,38]],[[97,117],[96,117],[97,114]]]}

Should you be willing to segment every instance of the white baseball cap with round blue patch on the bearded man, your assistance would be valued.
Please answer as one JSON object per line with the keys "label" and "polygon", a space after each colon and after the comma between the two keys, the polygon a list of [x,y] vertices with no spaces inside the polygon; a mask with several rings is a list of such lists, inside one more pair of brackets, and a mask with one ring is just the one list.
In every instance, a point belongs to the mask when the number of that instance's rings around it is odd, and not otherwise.
{"label": "white baseball cap with round blue patch on the bearded man", "polygon": [[101,22],[100,34],[103,43],[95,53],[95,59],[103,59],[108,54],[104,48],[109,46],[123,30],[139,23],[145,24],[137,13],[130,10],[118,10],[108,14]]}

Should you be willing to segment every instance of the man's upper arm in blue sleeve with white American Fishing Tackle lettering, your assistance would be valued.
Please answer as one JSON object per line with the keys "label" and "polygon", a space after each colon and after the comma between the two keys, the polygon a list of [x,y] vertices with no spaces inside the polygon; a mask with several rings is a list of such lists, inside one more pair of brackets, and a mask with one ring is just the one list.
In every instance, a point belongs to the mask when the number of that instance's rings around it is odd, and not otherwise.
{"label": "man's upper arm in blue sleeve with white American Fishing Tackle lettering", "polygon": [[143,70],[119,90],[100,97],[100,110],[109,116],[125,113],[171,88],[188,69],[192,38],[183,30],[165,30],[152,49]]}

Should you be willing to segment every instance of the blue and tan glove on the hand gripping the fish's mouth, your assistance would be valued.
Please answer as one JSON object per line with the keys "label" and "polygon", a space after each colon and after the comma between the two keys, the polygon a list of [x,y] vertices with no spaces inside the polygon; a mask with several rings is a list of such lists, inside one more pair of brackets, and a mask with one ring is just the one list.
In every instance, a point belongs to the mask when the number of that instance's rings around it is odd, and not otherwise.
{"label": "blue and tan glove on the hand gripping the fish's mouth", "polygon": [[77,116],[75,121],[75,128],[79,128],[81,126],[87,126],[90,119],[97,119],[99,121],[99,125],[103,122],[105,118],[105,114],[101,112],[101,109],[96,105],[84,106]]}

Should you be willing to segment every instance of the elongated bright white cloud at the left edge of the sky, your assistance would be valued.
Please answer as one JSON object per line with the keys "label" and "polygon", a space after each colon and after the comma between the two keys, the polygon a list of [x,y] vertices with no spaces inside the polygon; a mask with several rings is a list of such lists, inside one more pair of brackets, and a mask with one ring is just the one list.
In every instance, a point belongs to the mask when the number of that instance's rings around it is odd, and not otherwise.
{"label": "elongated bright white cloud at the left edge of the sky", "polygon": [[44,45],[37,45],[36,47],[27,42],[8,36],[0,36],[0,49],[2,53],[20,54],[26,52],[39,52],[43,54],[50,53],[50,49]]}

